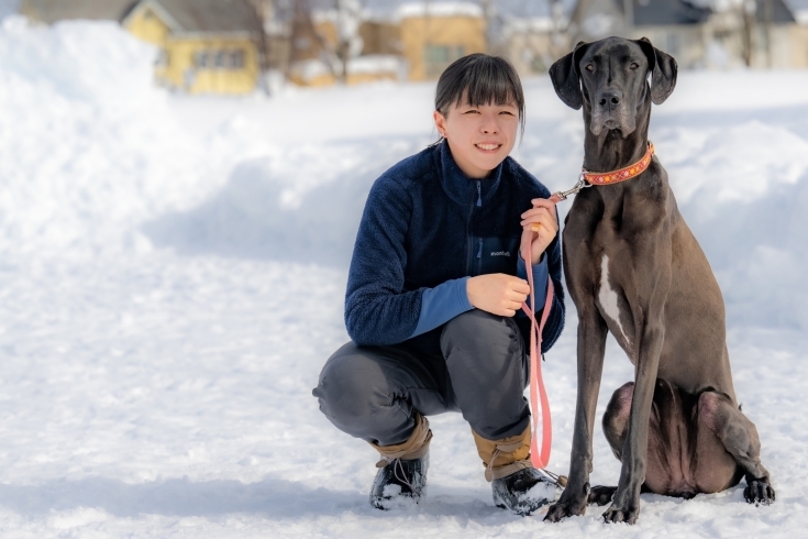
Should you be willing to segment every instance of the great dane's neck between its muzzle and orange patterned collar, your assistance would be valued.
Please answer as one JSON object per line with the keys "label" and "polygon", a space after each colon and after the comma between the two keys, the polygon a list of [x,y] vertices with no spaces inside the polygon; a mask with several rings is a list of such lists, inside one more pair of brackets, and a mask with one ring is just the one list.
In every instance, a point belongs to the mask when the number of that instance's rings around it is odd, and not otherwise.
{"label": "great dane's neck between its muzzle and orange patterned collar", "polygon": [[605,173],[617,170],[637,163],[645,154],[649,143],[649,123],[651,121],[651,97],[645,92],[637,114],[637,128],[623,138],[619,130],[604,129],[599,135],[589,130],[591,107],[585,100],[584,120],[586,134],[584,138],[584,168],[590,172]]}

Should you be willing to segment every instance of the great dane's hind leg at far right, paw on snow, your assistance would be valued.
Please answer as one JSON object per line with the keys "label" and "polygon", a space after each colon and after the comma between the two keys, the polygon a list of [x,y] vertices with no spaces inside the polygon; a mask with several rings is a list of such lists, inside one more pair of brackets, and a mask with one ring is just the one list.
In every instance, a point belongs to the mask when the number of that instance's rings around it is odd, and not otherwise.
{"label": "great dane's hind leg at far right, paw on snow", "polygon": [[755,505],[774,502],[775,493],[768,471],[761,463],[761,440],[754,424],[729,397],[717,392],[705,392],[699,396],[698,416],[699,422],[718,437],[743,471],[746,479],[743,496],[746,502]]}

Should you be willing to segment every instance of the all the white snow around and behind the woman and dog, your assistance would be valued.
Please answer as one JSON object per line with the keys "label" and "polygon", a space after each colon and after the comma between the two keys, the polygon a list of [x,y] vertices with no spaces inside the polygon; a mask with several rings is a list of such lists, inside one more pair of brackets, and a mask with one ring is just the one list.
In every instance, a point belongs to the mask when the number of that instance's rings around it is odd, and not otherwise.
{"label": "all the white snow around and behind the woman and dog", "polygon": [[[432,85],[190,99],[152,87],[153,53],[112,24],[0,26],[1,537],[808,537],[808,73],[682,73],[651,129],[776,504],[741,485],[547,525],[492,506],[458,415],[432,420],[428,498],[372,509],[373,450],[310,394],[347,339],[365,194],[434,139]],[[580,113],[525,89],[516,157],[568,187]],[[563,473],[574,336],[545,364]],[[610,343],[599,414],[631,376]],[[618,471],[598,426],[593,482]]]}

